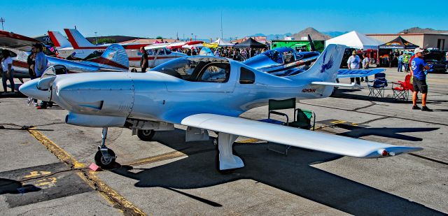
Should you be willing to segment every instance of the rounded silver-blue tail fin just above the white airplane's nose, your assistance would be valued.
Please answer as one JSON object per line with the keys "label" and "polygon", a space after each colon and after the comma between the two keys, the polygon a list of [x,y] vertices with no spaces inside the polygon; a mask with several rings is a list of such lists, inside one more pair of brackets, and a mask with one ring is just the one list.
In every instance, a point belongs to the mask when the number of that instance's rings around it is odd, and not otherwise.
{"label": "rounded silver-blue tail fin just above the white airplane's nose", "polygon": [[104,50],[100,57],[89,59],[88,64],[97,65],[111,71],[129,71],[129,59],[125,48],[120,44],[112,44]]}

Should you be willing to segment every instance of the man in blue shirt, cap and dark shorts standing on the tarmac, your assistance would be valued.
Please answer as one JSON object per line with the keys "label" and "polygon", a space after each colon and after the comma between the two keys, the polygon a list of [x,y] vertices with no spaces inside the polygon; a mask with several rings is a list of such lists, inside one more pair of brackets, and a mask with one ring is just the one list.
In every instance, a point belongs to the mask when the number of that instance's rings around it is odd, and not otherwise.
{"label": "man in blue shirt, cap and dark shorts standing on the tarmac", "polygon": [[428,70],[429,66],[423,61],[423,49],[415,48],[415,57],[411,61],[412,69],[412,84],[414,86],[414,94],[412,94],[412,109],[420,109],[417,106],[417,93],[421,92],[421,110],[422,111],[433,111],[426,106],[426,94],[428,94],[428,85],[426,84],[426,73],[424,70]]}

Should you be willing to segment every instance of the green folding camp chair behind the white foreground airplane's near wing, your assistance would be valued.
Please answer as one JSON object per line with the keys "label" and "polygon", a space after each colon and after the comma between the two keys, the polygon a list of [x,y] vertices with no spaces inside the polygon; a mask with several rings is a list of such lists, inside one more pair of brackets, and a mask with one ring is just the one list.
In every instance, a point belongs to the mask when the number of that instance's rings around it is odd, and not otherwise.
{"label": "green folding camp chair behind the white foreground airplane's near wing", "polygon": [[[281,113],[276,110],[285,110],[285,109],[294,109],[294,119],[290,121],[290,118],[286,113]],[[281,115],[284,117],[286,121],[272,120],[271,115]],[[312,120],[312,124],[311,124]],[[269,113],[267,113],[266,120],[260,120],[262,122],[269,122],[274,124],[282,124],[288,127],[297,127],[300,129],[313,129],[316,125],[316,113],[311,110],[302,110],[300,108],[295,108],[295,98],[286,99],[286,100],[269,100]],[[278,152],[280,154],[288,155],[288,150],[290,149],[290,145],[286,146],[283,152],[279,150],[275,150],[272,147],[269,147],[269,142],[267,143],[267,150],[272,150],[274,152]]]}

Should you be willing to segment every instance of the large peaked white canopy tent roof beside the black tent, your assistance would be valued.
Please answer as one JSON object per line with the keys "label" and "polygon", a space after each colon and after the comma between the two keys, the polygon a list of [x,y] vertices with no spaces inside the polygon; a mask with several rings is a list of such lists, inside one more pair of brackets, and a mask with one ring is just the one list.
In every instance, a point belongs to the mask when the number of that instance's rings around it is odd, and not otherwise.
{"label": "large peaked white canopy tent roof beside the black tent", "polygon": [[372,49],[378,50],[378,45],[383,44],[382,41],[378,41],[375,38],[371,38],[369,36],[365,36],[364,34],[360,34],[356,31],[350,31],[347,34],[343,34],[341,36],[337,36],[335,38],[328,39],[325,41],[325,47],[329,44],[342,44],[346,45],[349,48],[356,49]]}

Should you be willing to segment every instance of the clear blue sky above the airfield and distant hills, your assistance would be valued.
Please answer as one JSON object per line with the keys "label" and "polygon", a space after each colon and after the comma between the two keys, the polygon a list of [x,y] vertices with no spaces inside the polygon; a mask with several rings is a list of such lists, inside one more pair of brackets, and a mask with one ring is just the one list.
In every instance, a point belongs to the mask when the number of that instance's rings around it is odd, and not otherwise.
{"label": "clear blue sky above the airfield and distant hills", "polygon": [[[410,27],[448,30],[444,1],[20,1],[1,0],[5,30],[26,36],[75,25],[84,36],[179,38],[318,31],[397,33]],[[418,13],[413,12],[419,11]]]}

